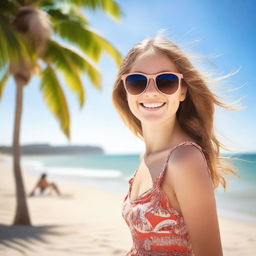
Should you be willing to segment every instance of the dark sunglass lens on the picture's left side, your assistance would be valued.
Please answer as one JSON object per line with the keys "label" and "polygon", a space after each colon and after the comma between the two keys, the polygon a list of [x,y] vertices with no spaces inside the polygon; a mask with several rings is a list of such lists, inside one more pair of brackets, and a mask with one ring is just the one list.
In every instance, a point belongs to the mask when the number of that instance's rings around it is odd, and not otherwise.
{"label": "dark sunglass lens on the picture's left side", "polygon": [[140,94],[147,86],[147,78],[139,74],[129,75],[126,77],[125,85],[130,94]]}

